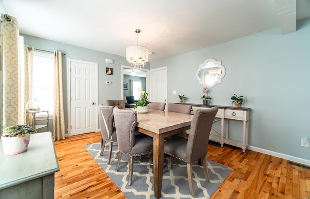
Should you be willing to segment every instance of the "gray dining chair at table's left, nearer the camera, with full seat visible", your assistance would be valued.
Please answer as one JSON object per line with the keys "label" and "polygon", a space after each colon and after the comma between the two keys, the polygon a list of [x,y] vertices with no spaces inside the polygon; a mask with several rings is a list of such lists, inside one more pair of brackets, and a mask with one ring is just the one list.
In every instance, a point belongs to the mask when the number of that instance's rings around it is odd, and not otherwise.
{"label": "gray dining chair at table's left, nearer the camera, with full seat visible", "polygon": [[135,133],[137,125],[137,112],[134,110],[113,109],[114,121],[118,139],[118,160],[115,171],[118,171],[122,154],[129,155],[129,178],[131,185],[133,174],[133,159],[153,151],[153,138],[142,133]]}

